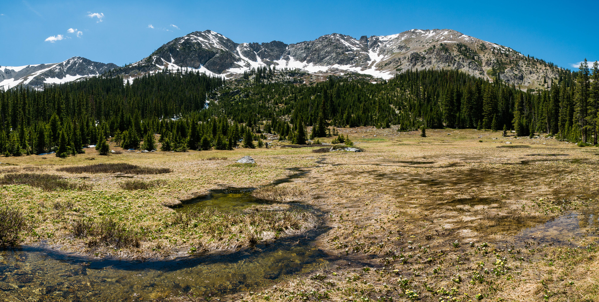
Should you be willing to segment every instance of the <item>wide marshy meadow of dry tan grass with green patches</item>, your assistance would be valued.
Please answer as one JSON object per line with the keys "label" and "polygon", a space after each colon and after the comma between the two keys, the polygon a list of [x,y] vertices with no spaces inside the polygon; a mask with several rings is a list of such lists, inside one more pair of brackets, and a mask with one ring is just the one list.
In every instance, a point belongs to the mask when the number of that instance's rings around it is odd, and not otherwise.
{"label": "wide marshy meadow of dry tan grass with green patches", "polygon": [[[588,149],[542,138],[517,140],[490,131],[431,129],[427,138],[419,137],[419,131],[394,129],[338,131],[349,134],[369,152],[314,155],[309,148],[273,147],[154,156],[124,153],[98,158],[98,162],[110,164],[118,159],[171,168],[173,174],[153,174],[146,180],[168,179],[168,188],[132,192],[119,189],[122,179],[94,176],[97,191],[40,192],[26,186],[5,186],[0,194],[5,197],[4,205],[14,206],[35,222],[31,234],[23,233],[26,243],[46,241],[63,246],[65,251],[130,259],[231,252],[250,246],[251,234],[256,239],[276,240],[277,230],[283,236],[286,233],[280,230],[286,225],[310,219],[299,214],[285,218],[283,213],[294,213],[290,204],[252,207],[237,214],[213,210],[179,213],[161,206],[164,200],[183,200],[210,188],[264,186],[264,190],[255,191],[256,197],[301,200],[326,213],[324,224],[330,230],[315,244],[341,260],[331,262],[328,270],[292,277],[276,288],[250,289],[251,295],[243,292],[222,300],[389,301],[392,297],[394,301],[409,301],[409,291],[418,292],[420,301],[453,301],[454,297],[455,301],[476,301],[473,296],[477,294],[483,295],[482,301],[543,301],[544,295],[548,301],[598,300],[599,255],[591,232],[595,225],[579,225],[584,237],[561,229],[565,243],[552,241],[553,245],[547,246],[543,238],[532,241],[515,236],[570,210],[591,208],[594,201],[589,202],[589,198],[599,196],[595,185],[599,171],[592,162],[599,158],[580,151]],[[506,141],[530,148],[496,148]],[[88,153],[95,156],[93,150]],[[530,161],[530,156],[524,156],[530,153],[570,155],[559,158],[564,161],[548,161],[543,156],[534,158],[541,161]],[[252,156],[259,164],[201,160],[243,155]],[[585,164],[575,164],[573,159],[583,159]],[[39,165],[41,159],[22,156],[14,161]],[[60,161],[48,158],[44,164],[84,162],[78,156]],[[309,173],[289,183],[268,186],[288,176],[288,168]],[[564,199],[568,200],[565,206],[561,203]],[[44,201],[59,201],[61,206],[42,206]],[[66,207],[67,201],[74,203],[72,207]],[[115,250],[115,241],[109,241],[108,246],[99,240],[88,245],[99,235],[72,239],[71,223],[87,218],[96,224],[113,218],[123,227],[144,234],[143,240],[139,247],[123,245]],[[285,224],[277,226],[285,219]],[[232,221],[238,224],[232,225]],[[496,265],[497,259],[503,264]],[[480,262],[484,262],[483,267]]]}

